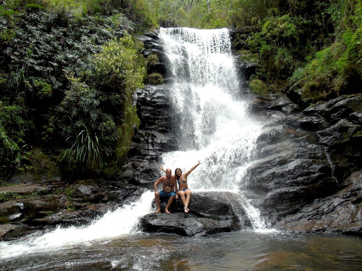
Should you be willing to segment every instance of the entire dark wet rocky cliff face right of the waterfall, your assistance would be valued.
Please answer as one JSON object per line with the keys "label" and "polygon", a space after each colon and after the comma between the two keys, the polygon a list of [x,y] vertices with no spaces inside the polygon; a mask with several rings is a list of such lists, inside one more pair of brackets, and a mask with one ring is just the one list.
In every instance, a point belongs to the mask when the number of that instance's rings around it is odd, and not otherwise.
{"label": "entire dark wet rocky cliff face right of the waterfall", "polygon": [[276,228],[361,235],[362,95],[302,112],[286,95],[273,98],[250,101],[252,115],[270,121],[244,189]]}

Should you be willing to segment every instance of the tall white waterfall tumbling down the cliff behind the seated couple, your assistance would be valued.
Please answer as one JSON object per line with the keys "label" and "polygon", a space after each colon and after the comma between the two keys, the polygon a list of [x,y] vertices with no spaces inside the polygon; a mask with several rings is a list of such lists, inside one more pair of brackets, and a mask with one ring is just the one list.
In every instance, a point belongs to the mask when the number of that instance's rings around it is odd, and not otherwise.
{"label": "tall white waterfall tumbling down the cliff behind the seated couple", "polygon": [[[239,82],[227,29],[160,30],[173,77],[170,95],[181,151],[163,155],[165,167],[188,170],[193,190],[240,192],[261,125],[250,119],[239,97]],[[240,201],[255,229],[266,227],[243,194]]]}

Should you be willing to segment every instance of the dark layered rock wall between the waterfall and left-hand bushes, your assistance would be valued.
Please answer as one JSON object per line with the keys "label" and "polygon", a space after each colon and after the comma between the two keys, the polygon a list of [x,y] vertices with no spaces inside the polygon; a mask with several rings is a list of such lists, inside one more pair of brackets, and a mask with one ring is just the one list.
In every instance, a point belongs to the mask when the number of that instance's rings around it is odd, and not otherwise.
{"label": "dark layered rock wall between the waterfall and left-hand bushes", "polygon": [[122,182],[151,188],[163,174],[159,169],[161,155],[176,149],[176,139],[169,123],[172,119],[171,98],[165,86],[146,86],[137,91],[140,125],[132,139],[129,160],[117,175]]}

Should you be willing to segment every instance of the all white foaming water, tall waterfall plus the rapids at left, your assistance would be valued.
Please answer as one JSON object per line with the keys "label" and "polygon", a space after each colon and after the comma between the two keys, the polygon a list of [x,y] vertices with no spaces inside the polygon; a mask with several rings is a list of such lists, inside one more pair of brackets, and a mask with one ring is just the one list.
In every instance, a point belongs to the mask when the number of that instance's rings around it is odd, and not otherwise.
{"label": "all white foaming water, tall waterfall plus the rapids at left", "polygon": [[[161,28],[160,34],[173,79],[169,87],[174,112],[171,124],[180,147],[163,155],[164,166],[188,170],[201,160],[188,177],[190,189],[234,192],[253,228],[265,229],[260,212],[240,191],[247,181],[246,170],[253,160],[261,125],[248,117],[240,98],[228,30]],[[152,212],[153,197],[148,191],[139,201],[108,212],[87,227],[58,228],[0,242],[0,258],[87,245],[131,233],[137,229],[139,217]]]}

